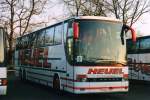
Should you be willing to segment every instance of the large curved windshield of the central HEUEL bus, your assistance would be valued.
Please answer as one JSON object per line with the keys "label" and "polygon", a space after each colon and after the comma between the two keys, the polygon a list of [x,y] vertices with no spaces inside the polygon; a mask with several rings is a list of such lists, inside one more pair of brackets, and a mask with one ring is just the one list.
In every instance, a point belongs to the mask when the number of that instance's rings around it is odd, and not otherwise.
{"label": "large curved windshield of the central HEUEL bus", "polygon": [[75,64],[125,64],[126,45],[121,42],[121,22],[80,20],[75,41]]}

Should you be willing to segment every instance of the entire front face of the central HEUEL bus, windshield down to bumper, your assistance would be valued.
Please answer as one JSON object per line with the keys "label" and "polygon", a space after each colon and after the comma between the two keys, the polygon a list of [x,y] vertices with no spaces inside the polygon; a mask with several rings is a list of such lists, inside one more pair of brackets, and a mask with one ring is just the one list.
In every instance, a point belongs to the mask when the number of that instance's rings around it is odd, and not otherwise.
{"label": "entire front face of the central HEUEL bus, windshield down to bumper", "polygon": [[122,23],[85,19],[74,22],[78,24],[79,37],[69,36],[73,34],[70,22],[67,58],[74,67],[74,84],[69,86],[68,82],[68,88],[74,93],[127,92],[126,44],[120,37]]}

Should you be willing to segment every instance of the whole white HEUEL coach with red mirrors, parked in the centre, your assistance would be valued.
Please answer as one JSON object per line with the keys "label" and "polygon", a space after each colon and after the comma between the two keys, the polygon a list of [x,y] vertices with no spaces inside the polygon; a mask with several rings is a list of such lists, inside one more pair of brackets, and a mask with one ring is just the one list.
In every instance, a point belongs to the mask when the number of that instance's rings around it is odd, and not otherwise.
{"label": "whole white HEUEL coach with red mirrors, parked in the centre", "polygon": [[117,19],[80,16],[17,38],[16,75],[75,94],[128,91],[125,31]]}

